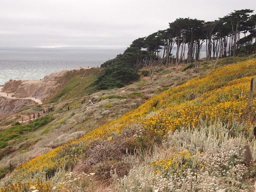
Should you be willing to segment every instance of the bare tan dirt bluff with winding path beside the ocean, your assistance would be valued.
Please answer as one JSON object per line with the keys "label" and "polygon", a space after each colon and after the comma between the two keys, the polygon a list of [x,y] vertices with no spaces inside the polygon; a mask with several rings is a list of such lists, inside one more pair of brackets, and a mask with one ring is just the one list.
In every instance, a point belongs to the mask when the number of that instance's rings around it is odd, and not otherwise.
{"label": "bare tan dirt bluff with winding path beside the ocean", "polygon": [[[0,87],[0,92],[8,93],[7,97],[4,97],[5,95],[0,97],[0,116],[11,114],[26,106],[37,104],[32,99],[43,100],[54,95],[71,77],[77,75],[77,73],[83,74],[86,70],[88,69],[62,70],[46,75],[41,80],[7,81],[3,87]],[[19,99],[13,99],[15,97]]]}

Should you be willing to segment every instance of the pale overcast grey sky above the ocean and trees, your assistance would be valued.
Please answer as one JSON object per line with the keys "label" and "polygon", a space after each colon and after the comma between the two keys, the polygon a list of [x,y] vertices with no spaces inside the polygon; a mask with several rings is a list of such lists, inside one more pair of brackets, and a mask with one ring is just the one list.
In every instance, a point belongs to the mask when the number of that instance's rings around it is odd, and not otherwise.
{"label": "pale overcast grey sky above the ocean and trees", "polygon": [[255,0],[0,0],[0,47],[125,48],[176,18],[245,8]]}

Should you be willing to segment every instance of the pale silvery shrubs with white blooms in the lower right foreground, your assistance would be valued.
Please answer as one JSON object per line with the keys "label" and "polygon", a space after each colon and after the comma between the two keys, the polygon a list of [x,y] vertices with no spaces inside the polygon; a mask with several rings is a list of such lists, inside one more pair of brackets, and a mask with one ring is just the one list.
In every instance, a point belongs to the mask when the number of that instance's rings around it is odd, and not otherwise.
{"label": "pale silvery shrubs with white blooms in the lower right foreground", "polygon": [[253,180],[248,178],[243,151],[247,142],[242,135],[228,136],[221,123],[175,131],[128,176],[118,178],[111,172],[115,190],[251,191]]}

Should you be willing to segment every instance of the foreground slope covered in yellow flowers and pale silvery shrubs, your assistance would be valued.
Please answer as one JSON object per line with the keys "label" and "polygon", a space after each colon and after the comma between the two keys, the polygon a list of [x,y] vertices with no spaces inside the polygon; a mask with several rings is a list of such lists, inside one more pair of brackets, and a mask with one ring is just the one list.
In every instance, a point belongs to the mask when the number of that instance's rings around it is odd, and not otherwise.
{"label": "foreground slope covered in yellow flowers and pale silvery shrubs", "polygon": [[256,171],[242,145],[255,155],[255,94],[248,101],[255,68],[256,59],[245,60],[168,89],[19,165],[0,190],[249,191]]}

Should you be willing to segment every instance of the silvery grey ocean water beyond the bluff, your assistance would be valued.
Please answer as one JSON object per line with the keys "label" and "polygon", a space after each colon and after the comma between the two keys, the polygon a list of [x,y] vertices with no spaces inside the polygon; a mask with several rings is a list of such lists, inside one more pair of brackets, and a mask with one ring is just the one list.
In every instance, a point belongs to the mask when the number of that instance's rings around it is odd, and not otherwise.
{"label": "silvery grey ocean water beyond the bluff", "polygon": [[9,79],[42,79],[64,69],[99,67],[124,49],[0,48],[0,85]]}

